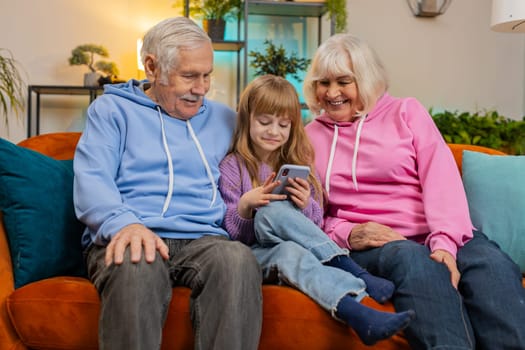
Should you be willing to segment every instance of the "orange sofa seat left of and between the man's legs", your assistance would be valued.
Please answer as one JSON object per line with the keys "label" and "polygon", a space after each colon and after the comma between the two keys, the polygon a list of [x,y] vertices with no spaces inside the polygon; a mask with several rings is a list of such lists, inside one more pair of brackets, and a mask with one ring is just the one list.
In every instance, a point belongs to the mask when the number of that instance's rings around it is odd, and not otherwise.
{"label": "orange sofa seat left of and between the man's legs", "polygon": [[[187,288],[175,288],[164,349],[192,349]],[[98,349],[98,293],[87,279],[54,277],[16,289],[7,299],[11,322],[31,349]],[[174,334],[173,330],[177,330]]]}

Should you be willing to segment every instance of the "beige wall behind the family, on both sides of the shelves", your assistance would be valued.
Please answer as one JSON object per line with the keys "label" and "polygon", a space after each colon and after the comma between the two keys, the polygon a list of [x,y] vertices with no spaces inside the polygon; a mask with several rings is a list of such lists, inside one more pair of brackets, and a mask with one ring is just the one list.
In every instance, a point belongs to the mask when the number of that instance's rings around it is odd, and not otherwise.
{"label": "beige wall behind the family, on both sides of the shelves", "polygon": [[[177,15],[171,0],[0,0],[0,46],[10,49],[33,85],[82,84],[85,67],[69,66],[71,50],[102,44],[122,78],[138,77],[136,39]],[[405,0],[348,0],[348,30],[366,39],[385,62],[390,92],[427,107],[524,113],[525,35],[490,31],[491,0],[452,0],[436,18],[416,18]],[[235,104],[234,55],[218,53],[220,86],[213,97]],[[42,97],[42,132],[81,130],[85,97]],[[26,137],[25,113],[0,137]]]}

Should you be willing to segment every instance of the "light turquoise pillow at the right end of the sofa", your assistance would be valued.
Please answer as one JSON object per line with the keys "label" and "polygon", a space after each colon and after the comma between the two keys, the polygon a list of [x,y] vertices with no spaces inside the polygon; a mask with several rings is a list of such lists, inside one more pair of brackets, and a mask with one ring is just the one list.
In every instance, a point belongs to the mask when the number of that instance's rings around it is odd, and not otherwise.
{"label": "light turquoise pillow at the right end of the sofa", "polygon": [[463,151],[462,170],[474,227],[525,273],[525,156]]}

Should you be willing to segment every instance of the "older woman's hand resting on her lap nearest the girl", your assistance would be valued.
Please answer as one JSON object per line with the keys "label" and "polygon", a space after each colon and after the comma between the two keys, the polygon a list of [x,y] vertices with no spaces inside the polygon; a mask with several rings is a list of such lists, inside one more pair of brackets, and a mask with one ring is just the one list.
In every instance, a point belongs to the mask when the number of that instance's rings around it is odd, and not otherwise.
{"label": "older woman's hand resting on her lap nearest the girl", "polygon": [[355,225],[348,237],[348,244],[353,250],[365,250],[383,246],[392,241],[405,240],[400,233],[377,222]]}

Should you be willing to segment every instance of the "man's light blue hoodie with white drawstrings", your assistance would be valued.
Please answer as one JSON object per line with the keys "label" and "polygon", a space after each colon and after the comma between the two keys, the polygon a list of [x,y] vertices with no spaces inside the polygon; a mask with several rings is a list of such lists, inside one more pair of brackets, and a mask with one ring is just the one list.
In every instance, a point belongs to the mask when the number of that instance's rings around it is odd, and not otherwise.
{"label": "man's light blue hoodie with white drawstrings", "polygon": [[106,85],[89,106],[74,159],[75,211],[87,226],[83,247],[107,245],[134,223],[165,238],[228,236],[217,183],[235,112],[204,99],[191,119],[176,119],[142,83]]}

